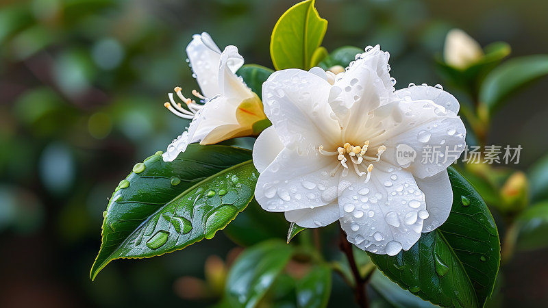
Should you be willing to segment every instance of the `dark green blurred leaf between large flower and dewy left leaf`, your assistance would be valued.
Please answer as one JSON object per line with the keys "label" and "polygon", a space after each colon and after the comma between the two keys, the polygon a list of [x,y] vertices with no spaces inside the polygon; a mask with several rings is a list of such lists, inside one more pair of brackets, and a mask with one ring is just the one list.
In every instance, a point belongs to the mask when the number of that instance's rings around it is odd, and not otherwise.
{"label": "dark green blurred leaf between large flower and dewy left leaf", "polygon": [[265,211],[253,199],[224,232],[236,244],[247,247],[271,238],[284,238],[286,227],[283,213]]}

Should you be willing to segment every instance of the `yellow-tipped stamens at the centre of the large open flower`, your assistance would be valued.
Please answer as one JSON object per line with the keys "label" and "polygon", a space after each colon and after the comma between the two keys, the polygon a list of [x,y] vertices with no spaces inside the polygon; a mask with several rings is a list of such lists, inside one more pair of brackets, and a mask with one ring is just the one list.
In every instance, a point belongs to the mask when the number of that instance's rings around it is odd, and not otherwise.
{"label": "yellow-tipped stamens at the centre of the large open flower", "polygon": [[[365,183],[369,182],[369,179],[371,179],[371,172],[373,171],[373,163],[378,162],[381,159],[382,153],[386,151],[386,146],[382,145],[377,148],[377,154],[375,156],[367,155],[367,150],[369,149],[369,140],[366,140],[364,142],[363,146],[353,146],[352,144],[349,144],[346,142],[343,144],[343,146],[339,146],[337,148],[337,151],[324,151],[323,146],[321,145],[319,147],[319,152],[321,155],[325,156],[336,156],[338,161],[340,162],[337,164],[337,166],[330,172],[329,175],[334,177],[338,170],[340,169],[340,166],[343,166],[343,177],[346,177],[348,175],[348,164],[347,162],[351,162],[351,166],[353,166],[354,171],[356,174],[360,177],[366,176]],[[367,168],[365,166],[367,165]],[[360,168],[365,168],[365,170],[360,170]]]}

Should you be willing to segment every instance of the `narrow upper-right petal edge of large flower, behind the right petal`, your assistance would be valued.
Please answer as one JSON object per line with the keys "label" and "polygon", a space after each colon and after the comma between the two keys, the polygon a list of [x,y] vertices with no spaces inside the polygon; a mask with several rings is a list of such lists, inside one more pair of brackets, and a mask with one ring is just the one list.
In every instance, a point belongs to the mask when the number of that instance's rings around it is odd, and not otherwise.
{"label": "narrow upper-right petal edge of large flower, behind the right petal", "polygon": [[458,110],[460,108],[460,104],[457,99],[453,97],[453,95],[442,89],[431,86],[411,86],[409,88],[403,88],[401,90],[397,90],[396,95],[400,99],[406,99],[406,97],[409,97],[410,101],[432,101],[445,107],[447,110],[451,110],[455,114],[458,114]]}

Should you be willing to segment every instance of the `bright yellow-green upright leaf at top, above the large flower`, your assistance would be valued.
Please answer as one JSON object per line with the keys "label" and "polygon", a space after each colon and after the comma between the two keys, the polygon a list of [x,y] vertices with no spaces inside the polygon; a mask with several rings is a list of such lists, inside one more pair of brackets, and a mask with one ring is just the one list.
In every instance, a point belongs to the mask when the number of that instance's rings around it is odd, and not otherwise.
{"label": "bright yellow-green upright leaf at top, above the large flower", "polygon": [[312,68],[312,55],[320,47],[327,21],[314,8],[314,0],[293,5],[272,31],[270,55],[276,70]]}

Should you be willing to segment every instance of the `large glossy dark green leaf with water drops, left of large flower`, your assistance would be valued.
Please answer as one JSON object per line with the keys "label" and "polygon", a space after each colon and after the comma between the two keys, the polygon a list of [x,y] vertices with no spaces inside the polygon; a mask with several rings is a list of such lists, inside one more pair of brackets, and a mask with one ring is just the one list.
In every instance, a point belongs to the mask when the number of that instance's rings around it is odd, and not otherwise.
{"label": "large glossy dark green leaf with water drops, left of large flower", "polygon": [[[173,162],[161,154],[136,164],[114,190],[92,279],[114,259],[161,255],[211,236],[253,196],[256,171],[249,150],[190,144]],[[238,168],[227,169],[232,166]],[[210,191],[215,194],[208,197]]]}

